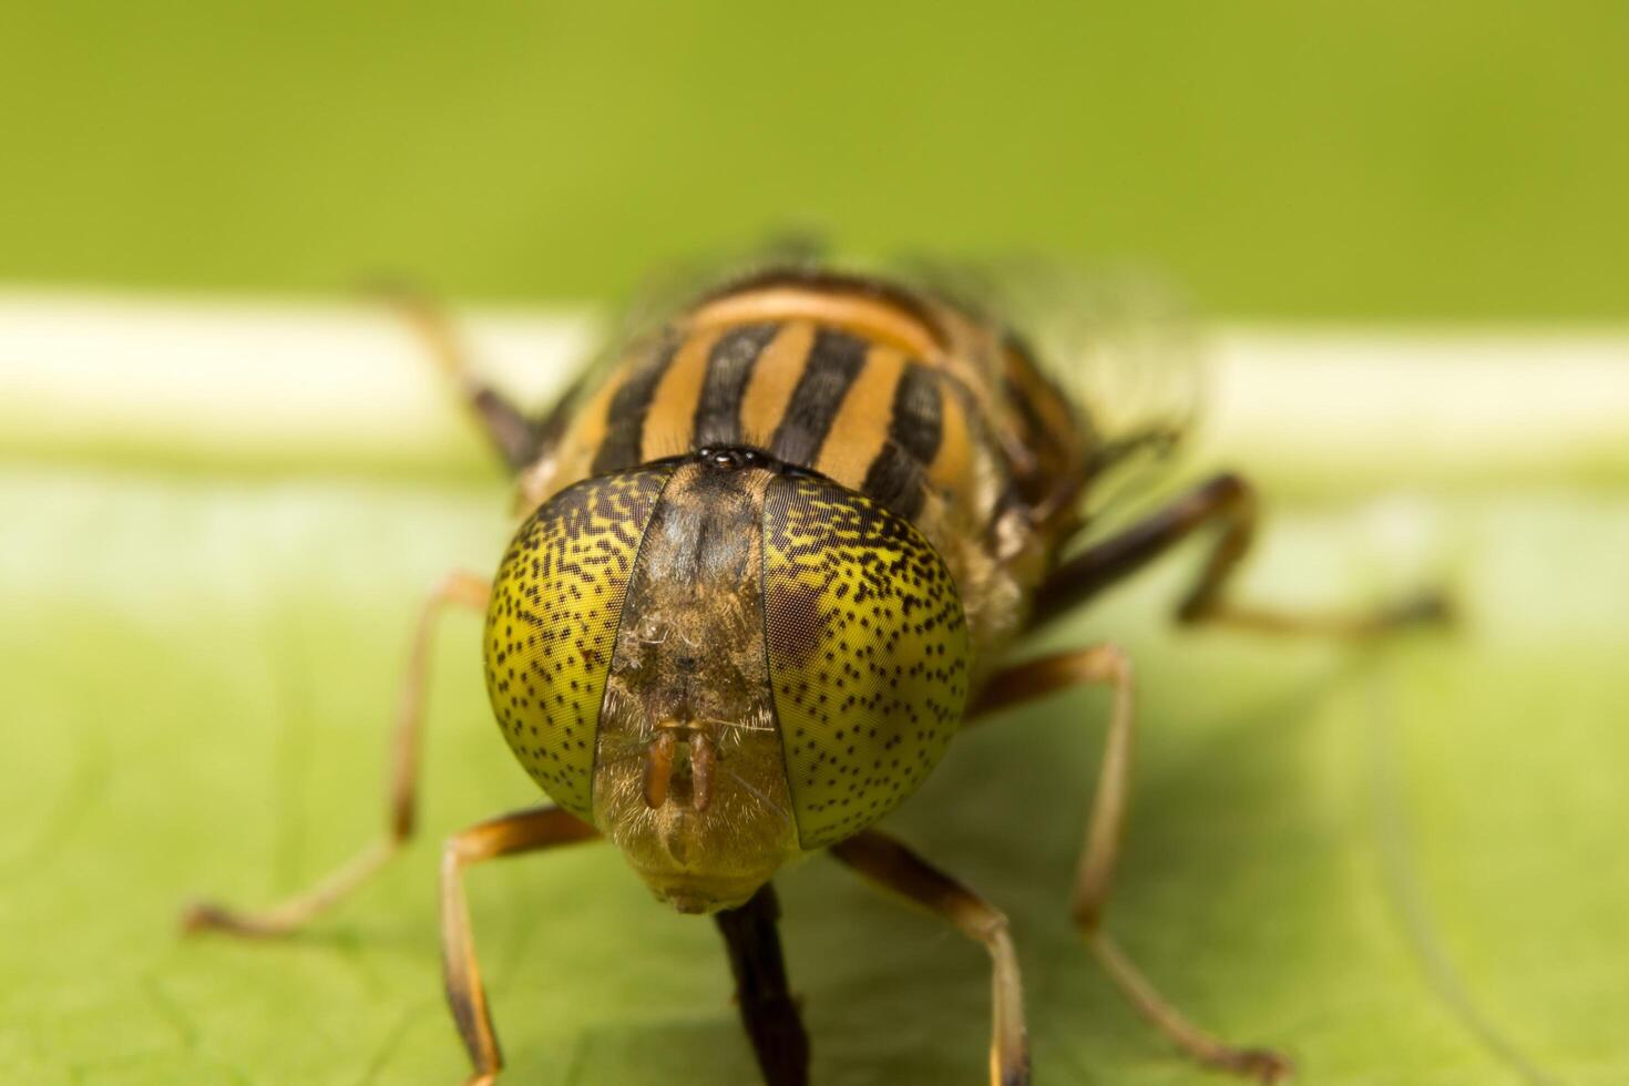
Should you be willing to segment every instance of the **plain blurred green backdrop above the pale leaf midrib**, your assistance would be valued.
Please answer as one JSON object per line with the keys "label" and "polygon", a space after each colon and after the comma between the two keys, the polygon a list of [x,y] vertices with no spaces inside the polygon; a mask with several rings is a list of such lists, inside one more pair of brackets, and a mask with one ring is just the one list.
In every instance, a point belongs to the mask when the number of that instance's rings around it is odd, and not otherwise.
{"label": "plain blurred green backdrop above the pale leaf midrib", "polygon": [[8,3],[0,280],[617,293],[787,223],[1629,314],[1629,5]]}

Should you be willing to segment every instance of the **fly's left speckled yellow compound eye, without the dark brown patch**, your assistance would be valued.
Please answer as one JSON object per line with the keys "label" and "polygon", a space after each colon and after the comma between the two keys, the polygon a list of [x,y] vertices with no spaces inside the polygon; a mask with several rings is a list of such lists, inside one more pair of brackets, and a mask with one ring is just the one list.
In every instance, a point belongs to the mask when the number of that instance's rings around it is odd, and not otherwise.
{"label": "fly's left speckled yellow compound eye, without the dark brown patch", "polygon": [[521,524],[487,607],[487,697],[549,796],[593,821],[595,738],[639,542],[671,469],[580,482]]}

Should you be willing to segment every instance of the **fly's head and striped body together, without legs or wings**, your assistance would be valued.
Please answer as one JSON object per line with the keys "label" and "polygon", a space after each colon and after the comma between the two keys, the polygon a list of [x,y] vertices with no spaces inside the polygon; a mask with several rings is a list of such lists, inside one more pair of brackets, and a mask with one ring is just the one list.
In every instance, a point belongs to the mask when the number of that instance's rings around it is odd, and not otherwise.
{"label": "fly's head and striped body together, without legs or wings", "polygon": [[1088,440],[1000,329],[801,272],[635,340],[547,431],[489,612],[494,708],[687,912],[927,777],[1074,526]]}

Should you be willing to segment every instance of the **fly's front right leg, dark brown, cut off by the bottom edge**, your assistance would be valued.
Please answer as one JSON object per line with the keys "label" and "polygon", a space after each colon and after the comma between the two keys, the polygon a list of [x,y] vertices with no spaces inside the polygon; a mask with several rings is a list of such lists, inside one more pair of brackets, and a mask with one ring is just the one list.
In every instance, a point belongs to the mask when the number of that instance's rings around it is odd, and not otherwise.
{"label": "fly's front right leg, dark brown, cut off by the bottom edge", "polygon": [[1023,1024],[1023,985],[1007,917],[976,892],[930,866],[878,830],[865,830],[831,847],[831,855],[902,897],[937,912],[963,935],[984,943],[994,966],[990,1086],[1028,1086],[1030,1039]]}

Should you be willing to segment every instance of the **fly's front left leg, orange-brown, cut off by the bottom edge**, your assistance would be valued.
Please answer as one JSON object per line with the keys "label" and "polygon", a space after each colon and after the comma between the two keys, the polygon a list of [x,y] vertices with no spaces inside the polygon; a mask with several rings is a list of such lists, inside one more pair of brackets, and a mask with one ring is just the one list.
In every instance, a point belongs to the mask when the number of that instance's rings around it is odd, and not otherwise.
{"label": "fly's front left leg, orange-brown, cut off by the bottom edge", "polygon": [[469,931],[469,904],[464,900],[464,868],[482,860],[570,845],[598,837],[595,829],[560,808],[516,811],[479,822],[446,839],[441,850],[441,972],[446,1003],[453,1008],[458,1036],[464,1039],[474,1073],[466,1086],[487,1086],[503,1066],[498,1037],[492,1029],[487,992],[476,964],[476,943]]}

